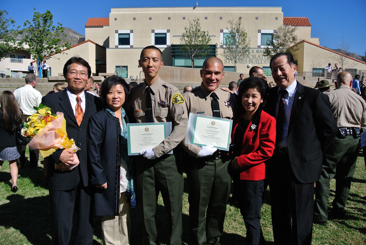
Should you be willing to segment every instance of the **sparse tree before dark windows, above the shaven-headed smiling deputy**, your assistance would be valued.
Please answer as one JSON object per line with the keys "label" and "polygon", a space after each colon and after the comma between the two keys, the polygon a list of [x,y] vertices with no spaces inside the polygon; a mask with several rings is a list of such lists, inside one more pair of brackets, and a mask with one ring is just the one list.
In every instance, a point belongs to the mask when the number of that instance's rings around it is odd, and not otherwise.
{"label": "sparse tree before dark windows, above the shaven-headed smiling deputy", "polygon": [[192,68],[194,59],[201,59],[211,51],[209,49],[210,42],[211,38],[208,36],[208,31],[201,29],[199,18],[188,19],[182,37],[180,37],[179,49],[184,56],[192,61]]}

